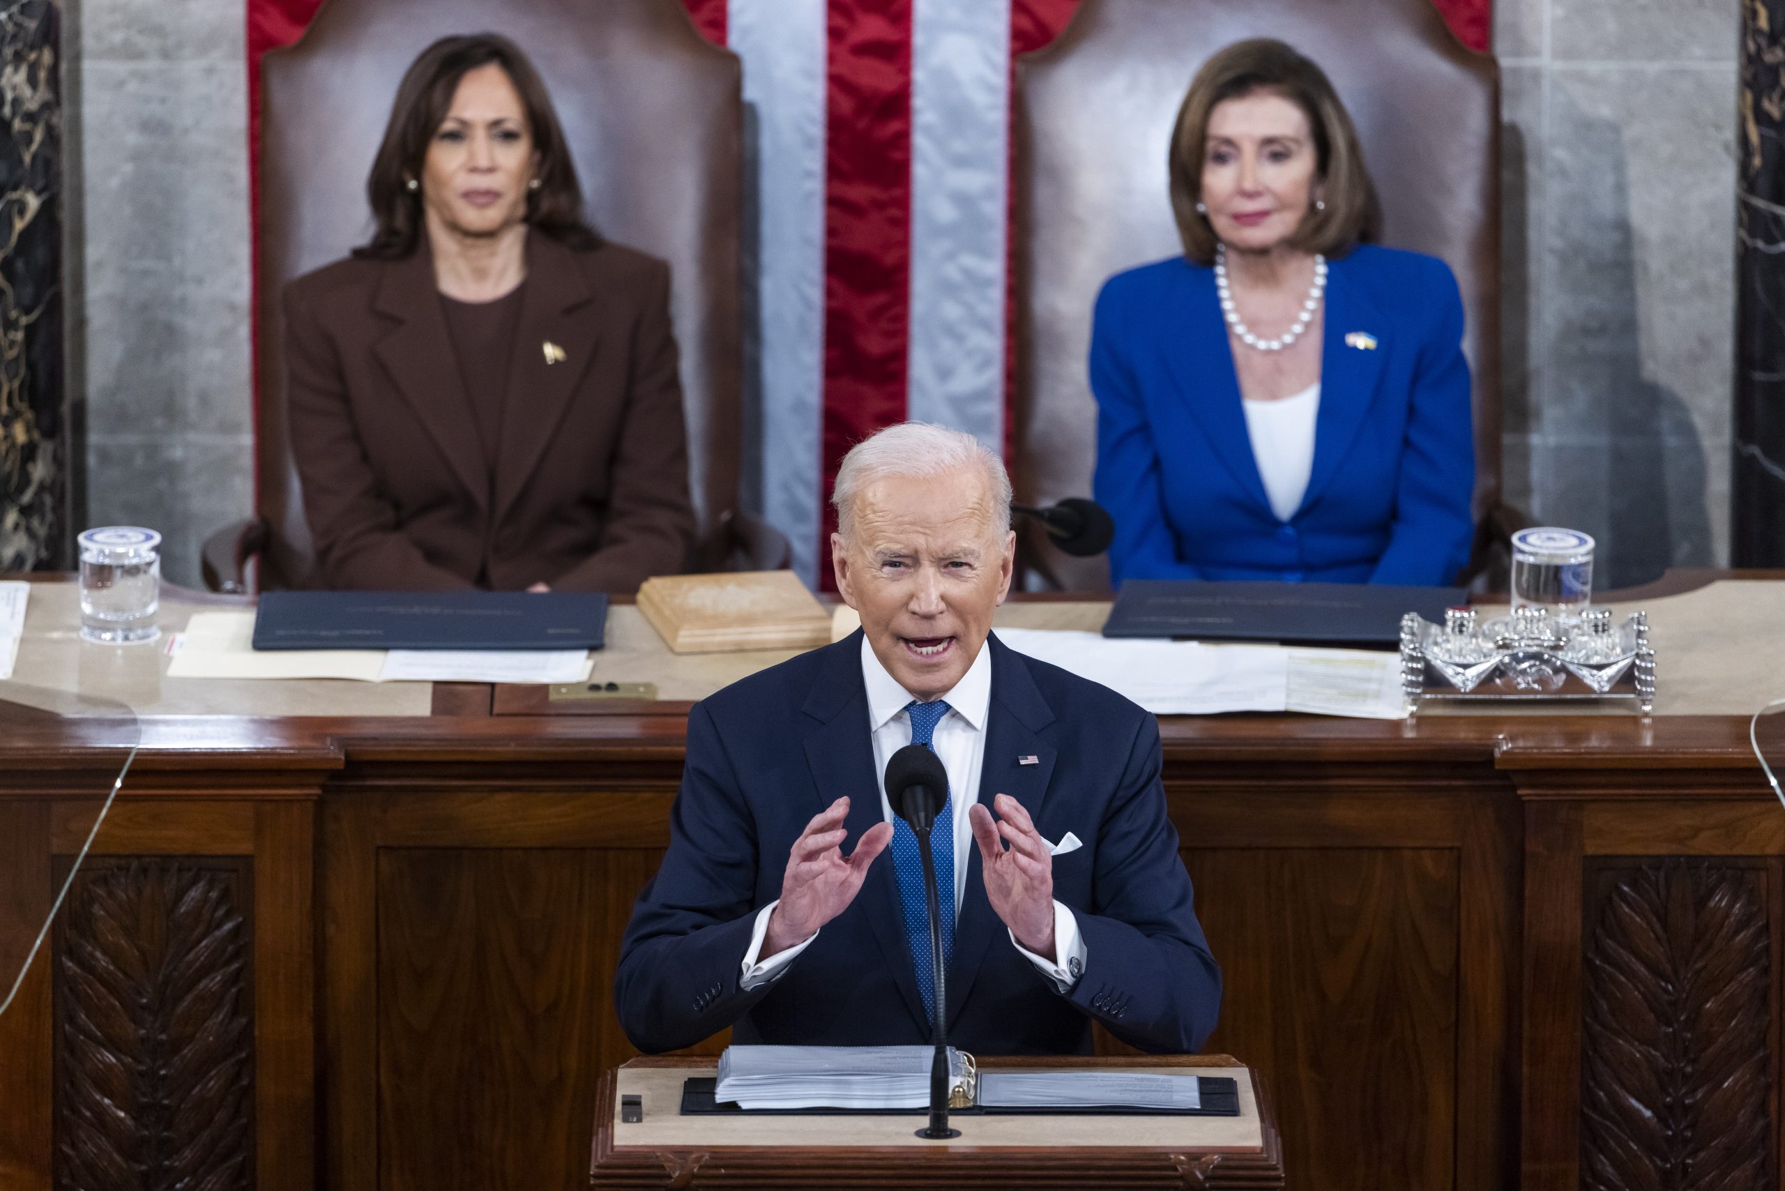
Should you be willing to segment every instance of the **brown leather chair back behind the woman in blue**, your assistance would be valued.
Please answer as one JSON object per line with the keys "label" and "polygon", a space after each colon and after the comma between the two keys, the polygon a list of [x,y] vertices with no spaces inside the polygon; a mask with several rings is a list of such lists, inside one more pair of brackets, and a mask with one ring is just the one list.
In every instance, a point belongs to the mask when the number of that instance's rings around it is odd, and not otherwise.
{"label": "brown leather chair back behind the woman in blue", "polygon": [[[1383,209],[1383,243],[1442,257],[1467,312],[1474,509],[1499,498],[1499,75],[1432,0],[1082,0],[1017,64],[1019,504],[1091,493],[1091,309],[1121,270],[1183,252],[1171,127],[1198,68],[1246,37],[1319,62],[1344,100]],[[1025,582],[1101,591],[1107,559],[1069,559],[1025,527]]]}

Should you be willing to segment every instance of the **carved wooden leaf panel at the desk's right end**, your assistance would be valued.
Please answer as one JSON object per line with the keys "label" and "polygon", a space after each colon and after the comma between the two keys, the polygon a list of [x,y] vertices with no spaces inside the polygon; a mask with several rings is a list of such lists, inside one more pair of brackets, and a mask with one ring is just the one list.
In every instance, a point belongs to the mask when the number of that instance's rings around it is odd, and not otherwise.
{"label": "carved wooden leaf panel at the desk's right end", "polygon": [[1656,859],[1589,923],[1582,1187],[1771,1187],[1765,873]]}

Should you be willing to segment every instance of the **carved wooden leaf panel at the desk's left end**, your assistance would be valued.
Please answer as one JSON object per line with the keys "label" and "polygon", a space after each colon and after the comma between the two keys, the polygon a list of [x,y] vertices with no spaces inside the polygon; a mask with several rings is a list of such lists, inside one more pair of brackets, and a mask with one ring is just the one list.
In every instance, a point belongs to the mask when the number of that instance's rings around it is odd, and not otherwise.
{"label": "carved wooden leaf panel at the desk's left end", "polygon": [[84,870],[57,955],[55,1187],[253,1182],[239,875],[177,861]]}

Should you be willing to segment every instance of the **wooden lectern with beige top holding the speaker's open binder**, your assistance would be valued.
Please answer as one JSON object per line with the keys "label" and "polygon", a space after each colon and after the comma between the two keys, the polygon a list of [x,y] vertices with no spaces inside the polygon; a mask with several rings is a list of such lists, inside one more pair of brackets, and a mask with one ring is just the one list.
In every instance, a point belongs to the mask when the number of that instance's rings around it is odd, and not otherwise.
{"label": "wooden lectern with beige top holding the speaker's open binder", "polygon": [[[682,1080],[716,1059],[634,1059],[602,1077],[593,1187],[1282,1187],[1283,1159],[1257,1075],[1225,1055],[980,1059],[1000,1068],[1178,1068],[1232,1075],[1239,1116],[959,1114],[923,1141],[925,1114],[682,1116]],[[644,1120],[621,1123],[619,1098]]]}

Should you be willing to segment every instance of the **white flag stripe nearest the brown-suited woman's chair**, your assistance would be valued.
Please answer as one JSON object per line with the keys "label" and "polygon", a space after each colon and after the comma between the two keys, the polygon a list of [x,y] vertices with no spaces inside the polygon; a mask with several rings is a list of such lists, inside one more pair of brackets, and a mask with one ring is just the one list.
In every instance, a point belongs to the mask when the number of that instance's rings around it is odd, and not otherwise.
{"label": "white flag stripe nearest the brown-suited woman's chair", "polygon": [[825,20],[825,0],[730,0],[725,36],[755,125],[762,514],[809,586],[823,500]]}

